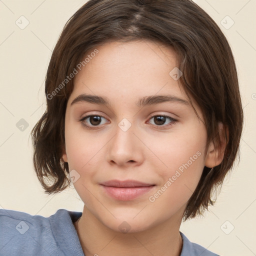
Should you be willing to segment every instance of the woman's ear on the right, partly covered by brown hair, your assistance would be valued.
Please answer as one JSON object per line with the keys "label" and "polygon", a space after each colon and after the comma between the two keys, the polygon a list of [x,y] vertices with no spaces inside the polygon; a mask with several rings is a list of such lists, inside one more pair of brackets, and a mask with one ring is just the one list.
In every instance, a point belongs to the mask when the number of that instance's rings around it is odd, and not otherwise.
{"label": "woman's ear on the right, partly covered by brown hair", "polygon": [[[218,164],[220,164],[222,162],[223,157],[224,157],[226,143],[228,141],[227,127],[225,128],[223,123],[219,122],[218,129],[219,129],[220,140],[221,140],[220,146],[219,146],[219,148],[215,148],[213,142],[211,141],[208,146],[208,150],[207,150],[207,153],[205,156],[204,165],[209,168],[217,166]],[[225,131],[226,131],[227,137],[225,136]]]}

